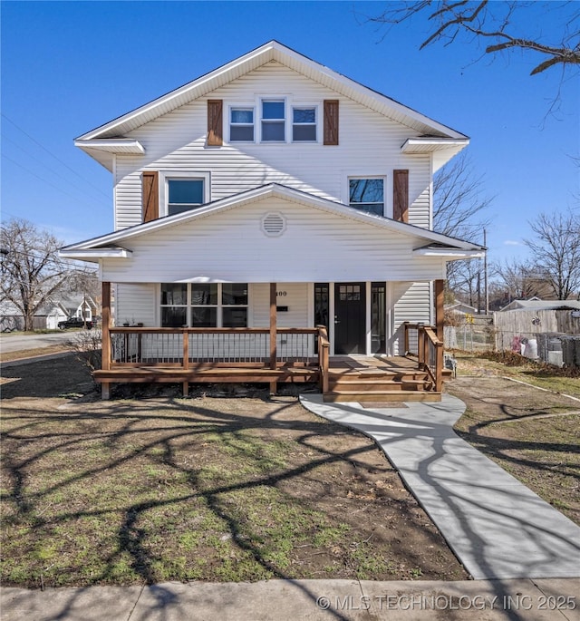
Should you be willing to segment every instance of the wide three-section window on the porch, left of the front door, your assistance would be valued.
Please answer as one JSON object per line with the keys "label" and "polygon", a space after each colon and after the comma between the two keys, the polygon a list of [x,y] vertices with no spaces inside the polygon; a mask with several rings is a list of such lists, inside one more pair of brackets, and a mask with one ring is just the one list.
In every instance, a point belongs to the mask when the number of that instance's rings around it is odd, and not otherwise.
{"label": "wide three-section window on the porch, left of the front door", "polygon": [[247,283],[161,284],[161,327],[247,327]]}

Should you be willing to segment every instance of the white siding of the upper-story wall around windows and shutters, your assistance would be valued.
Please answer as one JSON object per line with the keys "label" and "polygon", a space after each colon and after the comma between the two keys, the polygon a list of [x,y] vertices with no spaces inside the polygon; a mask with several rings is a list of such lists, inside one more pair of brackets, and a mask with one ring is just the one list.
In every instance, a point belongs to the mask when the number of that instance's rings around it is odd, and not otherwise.
{"label": "white siding of the upper-story wall around windows and shutters", "polygon": [[[286,123],[292,121],[289,114],[293,106],[311,107],[317,102],[322,110],[324,99],[339,99],[339,146],[329,149],[320,141],[260,143],[256,140],[226,143],[208,150],[208,99],[223,100],[227,110],[232,107],[256,110],[256,92],[260,97],[267,95],[272,99],[288,97]],[[255,125],[259,122],[256,114],[254,121]],[[317,119],[317,123],[320,134],[322,119]],[[289,131],[291,128],[286,129]],[[116,158],[115,228],[126,228],[141,221],[140,172],[143,169],[206,170],[211,175],[212,200],[274,182],[344,204],[348,204],[344,188],[349,176],[384,175],[387,215],[392,213],[392,170],[408,169],[410,222],[428,227],[430,156],[401,153],[401,144],[414,135],[416,131],[350,99],[337,97],[330,89],[281,64],[268,63],[208,93],[207,98],[169,112],[127,136],[139,140],[146,152],[142,156],[118,155]],[[380,162],[379,167],[377,162]]]}

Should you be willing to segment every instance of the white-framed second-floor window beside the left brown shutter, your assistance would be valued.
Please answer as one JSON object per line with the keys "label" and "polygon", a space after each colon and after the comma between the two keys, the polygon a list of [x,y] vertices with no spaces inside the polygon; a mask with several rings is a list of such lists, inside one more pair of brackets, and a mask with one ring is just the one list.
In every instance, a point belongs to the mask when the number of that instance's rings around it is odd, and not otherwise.
{"label": "white-framed second-floor window beside the left brown shutter", "polygon": [[208,172],[160,171],[160,216],[198,209],[210,200]]}

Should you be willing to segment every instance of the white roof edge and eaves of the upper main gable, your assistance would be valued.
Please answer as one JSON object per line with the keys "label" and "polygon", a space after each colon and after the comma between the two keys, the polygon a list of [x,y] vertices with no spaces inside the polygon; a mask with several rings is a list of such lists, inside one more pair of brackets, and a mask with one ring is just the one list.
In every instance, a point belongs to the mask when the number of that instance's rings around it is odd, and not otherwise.
{"label": "white roof edge and eaves of the upper main gable", "polygon": [[270,41],[252,52],[248,52],[236,60],[202,75],[193,82],[184,84],[136,110],[82,134],[75,140],[75,145],[109,168],[112,153],[144,152],[138,141],[125,137],[127,133],[271,62],[282,63],[314,80],[314,82],[318,82],[334,92],[338,92],[416,131],[419,136],[414,141],[405,143],[404,152],[451,149],[455,151],[453,153],[455,154],[469,142],[469,138],[465,134],[438,121],[433,121],[424,114],[412,110],[380,92],[373,91],[359,82],[354,82],[341,73],[333,72],[328,67],[316,63],[277,41]]}

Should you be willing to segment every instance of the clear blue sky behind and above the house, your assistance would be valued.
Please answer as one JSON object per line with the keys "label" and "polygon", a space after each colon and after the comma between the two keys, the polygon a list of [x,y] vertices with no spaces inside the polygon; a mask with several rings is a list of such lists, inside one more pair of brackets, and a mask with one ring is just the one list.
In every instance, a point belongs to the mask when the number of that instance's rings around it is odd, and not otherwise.
{"label": "clear blue sky behind and above the house", "polygon": [[[423,21],[388,34],[365,23],[385,4],[2,2],[2,217],[66,243],[111,231],[111,174],[73,139],[276,39],[468,134],[494,197],[489,259],[527,257],[527,221],[573,206],[580,191],[577,73],[530,77],[537,56],[476,62],[482,50],[463,42],[420,51]],[[557,41],[546,7],[519,14],[521,34]]]}

